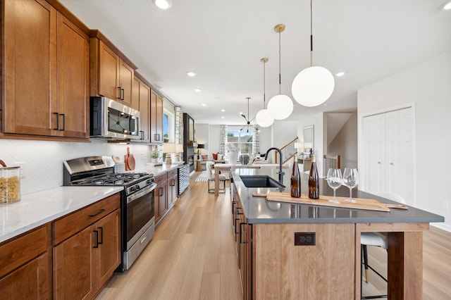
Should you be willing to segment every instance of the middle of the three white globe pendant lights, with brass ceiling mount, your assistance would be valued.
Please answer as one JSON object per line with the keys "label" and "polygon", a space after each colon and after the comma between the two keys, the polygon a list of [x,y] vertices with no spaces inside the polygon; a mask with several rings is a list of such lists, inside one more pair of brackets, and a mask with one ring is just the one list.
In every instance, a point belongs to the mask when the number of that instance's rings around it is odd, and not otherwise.
{"label": "middle of the three white globe pendant lights, with brass ceiling mount", "polygon": [[274,27],[274,31],[279,34],[279,94],[273,96],[268,102],[268,111],[275,120],[283,120],[288,118],[293,111],[293,101],[289,96],[282,94],[281,76],[280,76],[280,32],[285,30],[285,25],[278,24]]}

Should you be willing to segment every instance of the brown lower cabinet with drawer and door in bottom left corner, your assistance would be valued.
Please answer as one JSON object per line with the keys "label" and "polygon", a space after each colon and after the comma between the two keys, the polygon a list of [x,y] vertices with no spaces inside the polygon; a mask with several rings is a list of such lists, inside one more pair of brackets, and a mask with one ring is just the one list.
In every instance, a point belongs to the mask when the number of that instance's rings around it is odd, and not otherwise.
{"label": "brown lower cabinet with drawer and door in bottom left corner", "polygon": [[0,298],[51,299],[50,226],[0,244]]}

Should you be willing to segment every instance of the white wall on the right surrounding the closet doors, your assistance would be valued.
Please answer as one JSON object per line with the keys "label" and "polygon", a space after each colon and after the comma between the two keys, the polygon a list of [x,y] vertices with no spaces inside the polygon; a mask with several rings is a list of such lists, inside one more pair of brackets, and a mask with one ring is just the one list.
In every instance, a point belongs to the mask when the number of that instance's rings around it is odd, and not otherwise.
{"label": "white wall on the right surrounding the closet doors", "polygon": [[364,115],[408,104],[415,110],[416,206],[445,216],[445,223],[435,225],[451,231],[451,200],[446,190],[447,170],[451,170],[451,51],[360,89],[359,137]]}

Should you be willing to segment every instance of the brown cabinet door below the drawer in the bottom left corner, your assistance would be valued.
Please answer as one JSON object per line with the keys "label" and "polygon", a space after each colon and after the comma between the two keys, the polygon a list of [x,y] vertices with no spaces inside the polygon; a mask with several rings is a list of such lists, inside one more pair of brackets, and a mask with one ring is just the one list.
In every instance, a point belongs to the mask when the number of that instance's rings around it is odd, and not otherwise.
{"label": "brown cabinet door below the drawer in the bottom left corner", "polygon": [[47,253],[0,279],[1,299],[51,299],[51,277]]}

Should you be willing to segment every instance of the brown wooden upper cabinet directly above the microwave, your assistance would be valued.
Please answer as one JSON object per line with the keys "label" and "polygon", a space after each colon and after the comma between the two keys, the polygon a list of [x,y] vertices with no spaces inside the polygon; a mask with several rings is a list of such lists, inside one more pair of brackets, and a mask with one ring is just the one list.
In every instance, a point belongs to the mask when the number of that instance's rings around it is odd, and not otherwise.
{"label": "brown wooden upper cabinet directly above the microwave", "polygon": [[91,30],[91,96],[106,96],[137,110],[132,89],[137,67],[98,30]]}

